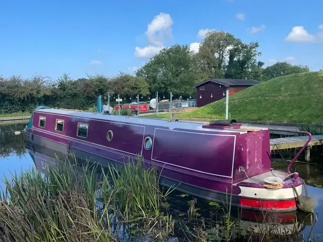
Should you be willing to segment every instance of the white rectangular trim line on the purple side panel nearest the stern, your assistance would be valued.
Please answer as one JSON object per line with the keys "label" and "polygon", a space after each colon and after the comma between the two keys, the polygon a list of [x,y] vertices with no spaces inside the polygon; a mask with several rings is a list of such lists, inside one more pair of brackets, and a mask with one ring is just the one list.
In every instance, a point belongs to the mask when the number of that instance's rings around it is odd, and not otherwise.
{"label": "white rectangular trim line on the purple side panel nearest the stern", "polygon": [[[165,162],[165,161],[153,159],[152,158],[152,155],[153,155],[153,146],[154,146],[154,143],[155,143],[155,132],[156,132],[156,130],[165,130],[165,131],[172,131],[172,132],[191,133],[191,134],[199,134],[199,135],[234,136],[235,138],[234,138],[234,145],[233,145],[233,158],[232,158],[231,176],[228,176],[228,175],[219,175],[219,174],[209,173],[209,172],[205,172],[205,171],[195,170],[195,169],[191,169],[191,168],[188,168],[188,167],[185,167],[185,166],[175,165],[175,164],[168,163],[168,162]],[[153,141],[152,141],[152,150],[151,150],[151,160],[158,161],[158,162],[161,162],[161,163],[164,163],[164,164],[168,164],[168,165],[173,165],[173,166],[181,167],[181,168],[188,169],[188,170],[192,170],[192,171],[196,171],[196,172],[200,172],[200,173],[204,173],[204,174],[233,178],[233,167],[234,167],[234,156],[235,156],[235,148],[236,148],[236,138],[237,138],[236,135],[205,134],[205,133],[197,133],[197,132],[188,132],[188,131],[167,130],[167,129],[155,128],[154,129],[154,132],[153,132]]]}

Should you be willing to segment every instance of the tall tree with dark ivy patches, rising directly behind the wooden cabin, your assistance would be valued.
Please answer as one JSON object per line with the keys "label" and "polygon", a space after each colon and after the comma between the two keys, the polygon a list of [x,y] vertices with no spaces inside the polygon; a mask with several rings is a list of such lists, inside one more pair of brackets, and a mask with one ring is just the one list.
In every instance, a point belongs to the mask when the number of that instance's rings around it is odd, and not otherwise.
{"label": "tall tree with dark ivy patches, rising directly behind the wooden cabin", "polygon": [[[258,42],[243,43],[233,34],[210,31],[196,54],[199,81],[207,78],[245,79],[258,77]],[[261,68],[261,67],[260,67]]]}

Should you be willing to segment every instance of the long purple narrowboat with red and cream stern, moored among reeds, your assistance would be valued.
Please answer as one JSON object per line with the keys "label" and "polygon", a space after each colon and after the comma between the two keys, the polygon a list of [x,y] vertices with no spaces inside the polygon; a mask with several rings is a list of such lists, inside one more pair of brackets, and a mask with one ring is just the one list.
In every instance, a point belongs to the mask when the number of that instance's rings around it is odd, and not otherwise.
{"label": "long purple narrowboat with red and cream stern, moored among reeds", "polygon": [[160,167],[163,186],[219,203],[232,196],[242,208],[286,212],[302,193],[298,173],[271,168],[266,128],[44,108],[33,111],[25,132],[31,144],[103,166],[140,155]]}

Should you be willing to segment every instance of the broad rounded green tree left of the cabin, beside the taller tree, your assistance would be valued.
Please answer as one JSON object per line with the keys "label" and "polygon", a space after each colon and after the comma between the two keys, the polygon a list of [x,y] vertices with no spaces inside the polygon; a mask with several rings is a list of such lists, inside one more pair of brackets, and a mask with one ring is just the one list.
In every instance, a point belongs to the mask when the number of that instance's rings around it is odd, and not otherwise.
{"label": "broad rounded green tree left of the cabin, beside the taller tree", "polygon": [[160,95],[173,92],[175,96],[188,97],[195,93],[196,68],[189,46],[175,44],[150,58],[136,75],[148,82],[151,92],[158,91]]}

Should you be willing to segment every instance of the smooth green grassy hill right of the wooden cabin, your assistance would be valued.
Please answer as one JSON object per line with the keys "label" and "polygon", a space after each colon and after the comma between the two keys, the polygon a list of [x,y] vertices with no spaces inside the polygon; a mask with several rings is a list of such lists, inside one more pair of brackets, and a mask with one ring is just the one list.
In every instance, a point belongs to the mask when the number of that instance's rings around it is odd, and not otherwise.
{"label": "smooth green grassy hill right of the wooden cabin", "polygon": [[[221,119],[225,98],[177,117]],[[323,123],[323,72],[274,78],[229,97],[231,118]]]}

